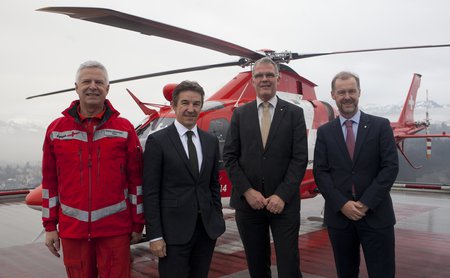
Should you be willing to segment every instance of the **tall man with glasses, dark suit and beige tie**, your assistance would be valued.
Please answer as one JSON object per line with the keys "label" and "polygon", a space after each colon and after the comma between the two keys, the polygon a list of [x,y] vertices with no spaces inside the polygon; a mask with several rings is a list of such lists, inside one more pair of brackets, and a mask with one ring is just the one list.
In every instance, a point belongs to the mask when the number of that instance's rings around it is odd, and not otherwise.
{"label": "tall man with glasses, dark suit and beige tie", "polygon": [[271,229],[278,277],[298,278],[299,186],[308,161],[303,110],[276,96],[280,74],[271,59],[256,61],[252,74],[257,99],[234,111],[224,147],[230,205],[251,277],[271,277]]}

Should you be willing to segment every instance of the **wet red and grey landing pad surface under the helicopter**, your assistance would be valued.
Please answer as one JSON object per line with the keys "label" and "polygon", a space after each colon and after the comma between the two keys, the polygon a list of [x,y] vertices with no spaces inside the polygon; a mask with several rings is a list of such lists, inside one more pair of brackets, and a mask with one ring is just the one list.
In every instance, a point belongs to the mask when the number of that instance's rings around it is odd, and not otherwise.
{"label": "wet red and grey landing pad surface under the helicopter", "polygon": [[[450,194],[415,191],[392,193],[397,216],[397,277],[450,277]],[[61,258],[43,244],[40,212],[28,208],[24,197],[0,199],[0,277],[65,277]],[[319,216],[323,199],[302,200],[299,234],[304,277],[336,277],[327,230]],[[210,277],[249,277],[236,228],[234,211],[224,209],[227,230],[217,241]],[[158,277],[157,259],[148,243],[131,247],[132,277]],[[274,252],[272,252],[274,254]],[[275,256],[272,269],[276,276]],[[365,264],[361,277],[367,277]]]}

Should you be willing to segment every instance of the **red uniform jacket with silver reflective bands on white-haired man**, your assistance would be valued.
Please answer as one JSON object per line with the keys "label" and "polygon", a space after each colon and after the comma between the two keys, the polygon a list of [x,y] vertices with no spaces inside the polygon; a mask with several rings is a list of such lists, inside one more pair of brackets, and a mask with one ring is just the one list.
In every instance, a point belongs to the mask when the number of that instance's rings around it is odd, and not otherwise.
{"label": "red uniform jacket with silver reflective bands on white-haired man", "polygon": [[106,100],[89,132],[74,101],[46,132],[42,160],[42,220],[62,238],[141,232],[142,149],[133,125]]}

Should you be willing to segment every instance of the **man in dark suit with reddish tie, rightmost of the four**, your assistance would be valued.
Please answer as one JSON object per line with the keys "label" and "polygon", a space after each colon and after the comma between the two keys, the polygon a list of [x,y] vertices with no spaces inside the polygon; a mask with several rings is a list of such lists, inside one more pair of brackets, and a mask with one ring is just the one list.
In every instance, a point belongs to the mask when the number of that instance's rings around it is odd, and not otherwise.
{"label": "man in dark suit with reddish tie, rightmost of the four", "polygon": [[360,245],[369,277],[394,277],[395,216],[389,192],[398,157],[389,120],[358,109],[357,75],[338,73],[331,89],[340,116],[317,131],[314,178],[325,199],[338,277],[358,277]]}

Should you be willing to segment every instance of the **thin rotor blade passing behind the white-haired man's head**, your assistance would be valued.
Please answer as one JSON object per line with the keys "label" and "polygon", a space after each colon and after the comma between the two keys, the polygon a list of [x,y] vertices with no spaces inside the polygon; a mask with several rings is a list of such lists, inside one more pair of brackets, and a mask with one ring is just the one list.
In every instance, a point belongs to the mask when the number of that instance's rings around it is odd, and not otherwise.
{"label": "thin rotor blade passing behind the white-haired man's head", "polygon": [[[191,72],[191,71],[199,71],[199,70],[207,70],[207,69],[223,68],[223,67],[231,67],[231,66],[244,66],[246,63],[247,63],[247,60],[244,58],[241,58],[241,59],[239,59],[239,61],[236,61],[236,62],[212,64],[212,65],[206,65],[206,66],[190,67],[190,68],[183,68],[183,69],[176,69],[176,70],[169,70],[169,71],[161,71],[161,72],[150,73],[150,74],[136,75],[136,76],[131,76],[131,77],[127,77],[127,78],[111,80],[111,81],[109,81],[109,84],[115,84],[115,83],[121,83],[121,82],[127,82],[127,81],[132,81],[132,80],[151,78],[151,77],[157,77],[157,76],[163,76],[163,75],[170,75],[170,74],[176,74],[176,73],[183,73],[183,72]],[[51,96],[51,95],[71,92],[74,90],[75,90],[75,88],[64,89],[64,90],[54,91],[54,92],[45,93],[45,94],[29,96],[26,99]]]}

